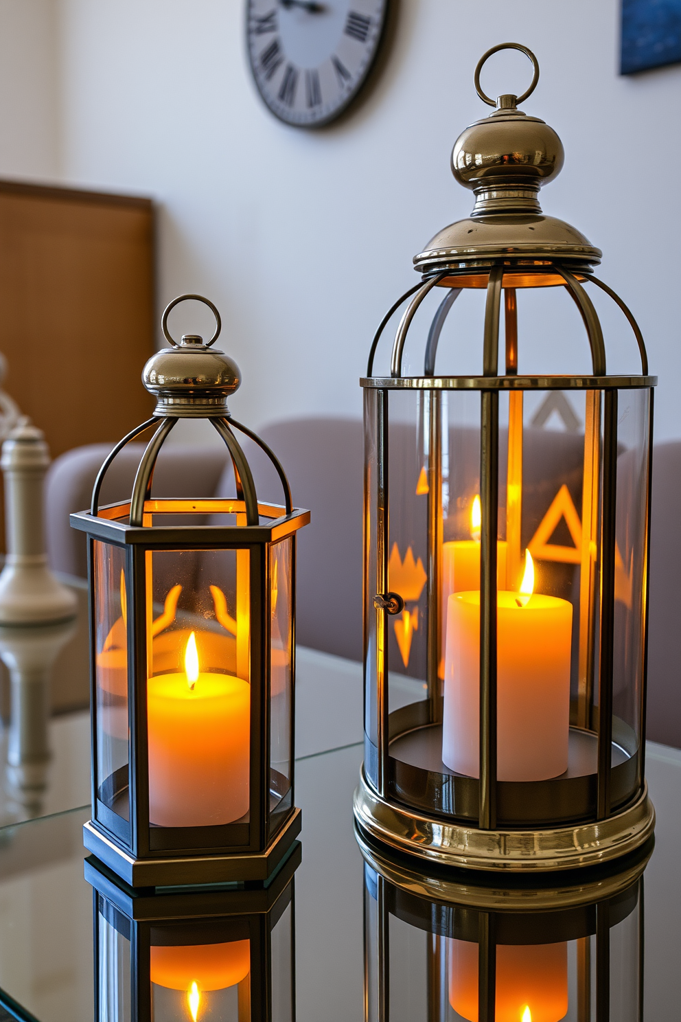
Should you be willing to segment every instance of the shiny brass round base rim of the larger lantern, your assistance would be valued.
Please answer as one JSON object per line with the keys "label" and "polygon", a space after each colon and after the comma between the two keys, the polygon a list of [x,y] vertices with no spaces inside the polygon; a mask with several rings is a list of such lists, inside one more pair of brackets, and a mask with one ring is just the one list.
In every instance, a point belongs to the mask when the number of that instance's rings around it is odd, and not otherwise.
{"label": "shiny brass round base rim of the larger lantern", "polygon": [[651,836],[654,809],[647,785],[619,812],[553,829],[480,830],[429,817],[381,797],[363,766],[354,793],[357,825],[395,851],[433,865],[505,873],[553,873],[626,855]]}

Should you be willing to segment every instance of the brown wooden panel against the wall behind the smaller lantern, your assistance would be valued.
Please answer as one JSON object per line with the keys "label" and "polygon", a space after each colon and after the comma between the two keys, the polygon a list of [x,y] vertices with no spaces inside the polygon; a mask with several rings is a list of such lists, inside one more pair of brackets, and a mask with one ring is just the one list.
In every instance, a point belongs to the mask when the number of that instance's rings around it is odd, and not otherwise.
{"label": "brown wooden panel against the wall behind the smaller lantern", "polygon": [[53,458],[148,418],[153,321],[150,199],[0,181],[4,389]]}

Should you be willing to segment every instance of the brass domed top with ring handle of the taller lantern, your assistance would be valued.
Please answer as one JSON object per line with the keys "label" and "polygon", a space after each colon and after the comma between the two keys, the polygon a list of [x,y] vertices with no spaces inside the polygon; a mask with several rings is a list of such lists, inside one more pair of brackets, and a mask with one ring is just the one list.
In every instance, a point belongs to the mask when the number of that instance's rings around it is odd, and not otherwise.
{"label": "brass domed top with ring handle of the taller lantern", "polygon": [[[480,87],[480,71],[489,56],[502,49],[525,53],[533,63],[534,78],[522,96],[504,94],[494,102]],[[517,266],[558,264],[588,272],[600,262],[599,248],[570,224],[545,216],[539,204],[540,187],[561,172],[564,149],[549,125],[518,108],[538,80],[537,58],[518,43],[494,46],[479,61],[476,90],[496,109],[467,128],[451,154],[452,174],[474,191],[475,206],[470,218],[439,231],[415,257],[417,270],[461,271],[503,260]]]}

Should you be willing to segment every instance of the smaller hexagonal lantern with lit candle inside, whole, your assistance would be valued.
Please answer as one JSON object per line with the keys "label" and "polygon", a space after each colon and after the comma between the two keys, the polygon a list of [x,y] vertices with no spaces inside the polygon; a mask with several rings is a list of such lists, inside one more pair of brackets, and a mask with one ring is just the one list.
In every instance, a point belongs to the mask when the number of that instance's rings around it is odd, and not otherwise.
{"label": "smaller hexagonal lantern with lit candle inside, whole", "polygon": [[[184,295],[183,298],[197,297]],[[211,340],[171,337],[146,364],[153,418],[102,465],[89,512],[92,643],[90,851],[133,886],[265,878],[300,830],[293,804],[295,537],[273,452],[227,410],[240,383]],[[154,464],[182,418],[223,437],[233,500],[152,497]],[[99,506],[121,448],[154,428],[130,500]],[[263,503],[236,431],[274,464],[284,505]]]}

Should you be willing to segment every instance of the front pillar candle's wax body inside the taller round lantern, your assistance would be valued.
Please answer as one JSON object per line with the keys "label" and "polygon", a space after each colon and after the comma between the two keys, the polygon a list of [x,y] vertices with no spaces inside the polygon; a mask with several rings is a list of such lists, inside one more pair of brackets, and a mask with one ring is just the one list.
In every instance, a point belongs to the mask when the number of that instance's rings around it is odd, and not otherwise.
{"label": "front pillar candle's wax body inside the taller round lantern", "polygon": [[[572,604],[497,593],[497,780],[543,781],[568,768]],[[480,771],[480,592],[447,605],[442,759]]]}

